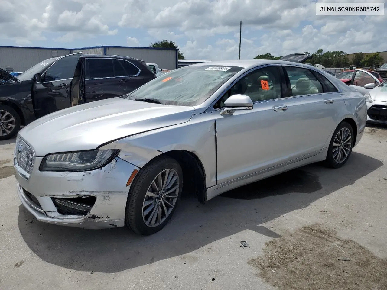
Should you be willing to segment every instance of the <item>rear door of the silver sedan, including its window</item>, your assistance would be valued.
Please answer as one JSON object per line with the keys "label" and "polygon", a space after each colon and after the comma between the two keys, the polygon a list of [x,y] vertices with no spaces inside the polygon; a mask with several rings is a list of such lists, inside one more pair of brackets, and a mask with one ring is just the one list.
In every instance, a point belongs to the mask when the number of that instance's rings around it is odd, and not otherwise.
{"label": "rear door of the silver sedan, including its window", "polygon": [[[278,111],[290,135],[284,139],[289,149],[288,162],[311,157],[324,147],[336,127],[344,99],[337,88],[322,74],[304,67],[283,65],[287,82],[282,105]],[[288,134],[288,133],[286,133]]]}

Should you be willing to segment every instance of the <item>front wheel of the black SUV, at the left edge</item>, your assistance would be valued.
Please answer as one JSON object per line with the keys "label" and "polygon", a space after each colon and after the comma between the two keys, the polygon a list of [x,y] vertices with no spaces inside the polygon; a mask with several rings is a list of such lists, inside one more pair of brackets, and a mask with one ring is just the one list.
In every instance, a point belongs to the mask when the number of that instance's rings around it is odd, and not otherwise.
{"label": "front wheel of the black SUV, at the left edge", "polygon": [[[20,126],[21,119],[19,114],[12,107],[0,104],[0,141],[8,140],[15,136],[19,132]],[[7,133],[8,131],[9,133]]]}

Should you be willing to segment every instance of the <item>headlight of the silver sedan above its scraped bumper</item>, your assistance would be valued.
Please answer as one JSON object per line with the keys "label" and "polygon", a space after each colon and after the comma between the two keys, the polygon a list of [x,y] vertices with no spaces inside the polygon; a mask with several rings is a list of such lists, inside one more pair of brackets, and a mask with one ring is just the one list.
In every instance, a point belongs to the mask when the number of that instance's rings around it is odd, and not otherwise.
{"label": "headlight of the silver sedan above its scraped bumper", "polygon": [[40,171],[89,171],[108,164],[120,153],[119,149],[88,150],[50,154],[43,158]]}

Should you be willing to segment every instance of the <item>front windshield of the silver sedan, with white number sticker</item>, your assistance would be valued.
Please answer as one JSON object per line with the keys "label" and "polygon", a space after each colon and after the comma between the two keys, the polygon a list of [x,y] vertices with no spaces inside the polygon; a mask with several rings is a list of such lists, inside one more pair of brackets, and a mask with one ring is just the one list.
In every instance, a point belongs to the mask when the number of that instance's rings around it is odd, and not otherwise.
{"label": "front windshield of the silver sedan, with white number sticker", "polygon": [[155,78],[132,92],[128,99],[153,99],[161,104],[196,106],[209,98],[241,67],[189,66]]}

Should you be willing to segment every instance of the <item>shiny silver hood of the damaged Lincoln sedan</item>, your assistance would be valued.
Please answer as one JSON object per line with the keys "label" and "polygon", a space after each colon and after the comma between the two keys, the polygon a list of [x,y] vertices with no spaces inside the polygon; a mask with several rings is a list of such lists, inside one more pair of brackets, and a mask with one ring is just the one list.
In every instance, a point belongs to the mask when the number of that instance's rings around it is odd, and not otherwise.
{"label": "shiny silver hood of the damaged Lincoln sedan", "polygon": [[194,107],[111,98],[51,113],[25,126],[19,135],[35,155],[95,149],[129,135],[185,123]]}

